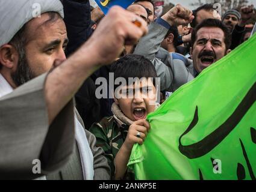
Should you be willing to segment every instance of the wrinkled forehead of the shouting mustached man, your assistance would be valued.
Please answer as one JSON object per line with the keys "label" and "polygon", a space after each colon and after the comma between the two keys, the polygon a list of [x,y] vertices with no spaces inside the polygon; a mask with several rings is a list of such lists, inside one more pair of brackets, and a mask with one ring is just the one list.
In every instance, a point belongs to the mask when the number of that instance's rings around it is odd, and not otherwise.
{"label": "wrinkled forehead of the shouting mustached man", "polygon": [[203,27],[199,29],[196,34],[196,40],[200,40],[202,38],[224,41],[224,32],[220,28]]}

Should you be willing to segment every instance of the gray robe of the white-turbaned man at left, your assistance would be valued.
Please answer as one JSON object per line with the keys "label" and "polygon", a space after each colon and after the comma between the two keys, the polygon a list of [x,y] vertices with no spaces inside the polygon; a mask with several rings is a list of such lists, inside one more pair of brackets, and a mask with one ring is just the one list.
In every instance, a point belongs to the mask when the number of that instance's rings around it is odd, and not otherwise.
{"label": "gray robe of the white-turbaned man at left", "polygon": [[[83,179],[75,145],[73,101],[49,126],[44,95],[46,75],[0,98],[0,179],[35,179],[42,175],[51,179],[51,175],[61,172],[62,176],[53,179]],[[86,136],[93,152],[95,179],[110,178],[103,150],[96,148],[91,133],[86,132]],[[36,159],[41,161],[42,175],[32,171]]]}

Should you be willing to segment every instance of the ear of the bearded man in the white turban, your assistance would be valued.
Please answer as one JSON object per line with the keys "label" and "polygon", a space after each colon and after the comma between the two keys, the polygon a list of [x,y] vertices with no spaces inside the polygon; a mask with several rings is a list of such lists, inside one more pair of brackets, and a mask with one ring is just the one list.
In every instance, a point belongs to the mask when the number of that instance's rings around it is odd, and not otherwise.
{"label": "ear of the bearded man in the white turban", "polygon": [[4,44],[0,47],[0,63],[7,68],[14,68],[19,61],[19,55],[16,49],[10,44]]}

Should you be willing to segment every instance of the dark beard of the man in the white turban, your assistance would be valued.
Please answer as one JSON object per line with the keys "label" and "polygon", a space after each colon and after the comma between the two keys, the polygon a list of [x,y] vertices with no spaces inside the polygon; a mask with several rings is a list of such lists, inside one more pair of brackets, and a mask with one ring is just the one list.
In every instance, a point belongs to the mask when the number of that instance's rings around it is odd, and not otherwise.
{"label": "dark beard of the man in the white turban", "polygon": [[19,62],[17,64],[17,70],[11,73],[11,78],[16,86],[23,85],[29,80],[36,77],[28,65],[28,59],[25,52],[19,52]]}

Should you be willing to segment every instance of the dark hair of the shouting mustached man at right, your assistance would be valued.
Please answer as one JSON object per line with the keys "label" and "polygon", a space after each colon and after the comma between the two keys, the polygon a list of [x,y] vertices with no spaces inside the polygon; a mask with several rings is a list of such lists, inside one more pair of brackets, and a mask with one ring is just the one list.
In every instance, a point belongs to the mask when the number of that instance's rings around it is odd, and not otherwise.
{"label": "dark hair of the shouting mustached man at right", "polygon": [[226,45],[226,50],[229,49],[231,46],[231,33],[229,32],[229,29],[218,19],[205,19],[200,23],[198,26],[196,26],[195,29],[193,29],[192,36],[191,36],[191,46],[193,47],[195,41],[196,41],[196,34],[198,33],[199,29],[204,27],[216,27],[222,29],[224,32],[224,42]]}

